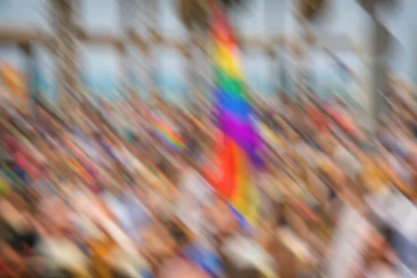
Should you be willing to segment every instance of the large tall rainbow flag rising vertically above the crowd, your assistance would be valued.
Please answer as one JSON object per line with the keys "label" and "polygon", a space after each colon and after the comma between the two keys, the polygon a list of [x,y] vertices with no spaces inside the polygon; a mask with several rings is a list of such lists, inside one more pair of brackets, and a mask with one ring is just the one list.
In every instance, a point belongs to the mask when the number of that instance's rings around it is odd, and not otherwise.
{"label": "large tall rainbow flag rising vertically above the crowd", "polygon": [[[252,106],[245,92],[238,46],[227,15],[213,4],[213,65],[217,120],[218,192],[229,199],[238,217],[252,223],[257,215],[258,193],[252,185],[254,166],[261,164],[256,149],[259,134],[252,122]],[[240,218],[241,219],[241,218]]]}

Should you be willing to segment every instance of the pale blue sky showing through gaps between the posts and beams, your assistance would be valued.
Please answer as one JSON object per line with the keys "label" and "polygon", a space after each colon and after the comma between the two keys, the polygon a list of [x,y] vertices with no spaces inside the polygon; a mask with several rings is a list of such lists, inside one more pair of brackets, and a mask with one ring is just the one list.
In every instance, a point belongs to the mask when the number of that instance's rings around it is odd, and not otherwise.
{"label": "pale blue sky showing through gaps between the posts and beams", "polygon": [[[44,10],[45,0],[0,0],[0,25],[19,24],[34,26],[35,28],[49,28],[46,19],[40,11]],[[161,22],[158,22],[165,35],[185,37],[183,28],[175,7],[175,0],[155,0],[159,3]],[[247,7],[236,13],[234,19],[236,26],[243,33],[271,35],[275,33],[296,34],[298,27],[286,6],[286,0],[252,0]],[[119,33],[120,25],[117,18],[116,0],[83,0],[82,20],[90,30],[106,30],[109,33]],[[332,13],[327,15],[326,24],[317,26],[322,32],[347,34],[357,44],[365,45],[370,30],[370,19],[361,10],[356,0],[334,0],[331,6]],[[400,7],[395,9],[395,15],[387,15],[386,10],[381,11],[382,17],[389,30],[402,44],[402,51],[397,55],[393,70],[410,78],[417,77],[414,62],[417,61],[414,48],[417,30],[415,17],[417,1],[402,0]],[[386,14],[386,15],[384,15]],[[54,61],[43,49],[37,54],[41,61],[41,72],[47,83],[54,84]],[[92,79],[102,90],[113,90],[108,81],[117,84],[117,71],[119,59],[111,47],[81,47],[83,60],[83,73]],[[309,55],[310,63],[315,72],[324,77],[336,76],[334,63],[319,51],[312,51]],[[360,60],[352,54],[339,54],[358,74],[366,74],[366,69]],[[24,68],[24,57],[15,46],[0,47],[0,60],[6,60],[19,68]],[[158,67],[161,79],[168,84],[167,90],[183,90],[185,82],[185,62],[175,51],[160,49],[158,54]],[[270,72],[270,61],[257,49],[250,49],[243,53],[243,65],[247,79],[252,88],[259,91],[268,91],[277,76]],[[106,85],[107,84],[107,85]]]}

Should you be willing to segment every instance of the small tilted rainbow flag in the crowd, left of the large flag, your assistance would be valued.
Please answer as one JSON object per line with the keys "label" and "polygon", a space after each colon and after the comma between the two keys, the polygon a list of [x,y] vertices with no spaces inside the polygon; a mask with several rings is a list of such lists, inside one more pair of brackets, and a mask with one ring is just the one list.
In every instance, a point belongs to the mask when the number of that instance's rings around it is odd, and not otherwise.
{"label": "small tilted rainbow flag in the crowd, left of the large flag", "polygon": [[150,117],[150,120],[152,122],[152,128],[155,135],[158,136],[158,138],[162,140],[165,145],[175,151],[181,151],[181,149],[186,147],[181,136],[173,131],[165,122],[157,119],[156,117]]}

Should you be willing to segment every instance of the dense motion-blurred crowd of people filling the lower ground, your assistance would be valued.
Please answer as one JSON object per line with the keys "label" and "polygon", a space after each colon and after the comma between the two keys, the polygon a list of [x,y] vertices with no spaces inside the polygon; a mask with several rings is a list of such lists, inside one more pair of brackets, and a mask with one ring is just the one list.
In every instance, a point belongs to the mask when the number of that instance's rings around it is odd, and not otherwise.
{"label": "dense motion-blurred crowd of people filling the lower ground", "polygon": [[0,277],[416,277],[409,117],[390,112],[371,142],[340,101],[256,104],[264,167],[247,229],[208,180],[212,110],[158,97],[68,115],[3,106]]}

